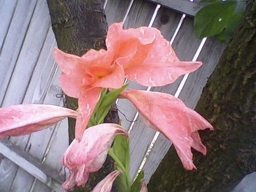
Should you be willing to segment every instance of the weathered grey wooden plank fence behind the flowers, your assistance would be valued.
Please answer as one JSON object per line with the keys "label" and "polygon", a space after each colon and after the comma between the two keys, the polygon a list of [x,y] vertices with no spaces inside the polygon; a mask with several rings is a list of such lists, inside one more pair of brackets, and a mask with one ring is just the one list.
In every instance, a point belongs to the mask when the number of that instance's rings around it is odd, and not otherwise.
{"label": "weathered grey wooden plank fence behind the flowers", "polygon": [[[200,9],[198,0],[106,0],[104,6],[108,25],[123,22],[124,28],[156,27],[170,40],[180,60],[203,62],[199,70],[173,84],[151,88],[176,94],[194,108],[225,48],[215,38],[198,40],[194,36],[192,16]],[[60,70],[51,54],[56,40],[46,0],[0,0],[0,18],[1,107],[21,103],[63,106],[63,98],[58,97],[62,94]],[[128,88],[148,89],[135,82]],[[117,105],[122,125],[130,132],[131,176],[143,168],[148,182],[171,142],[146,127],[128,100],[120,99]],[[66,119],[31,135],[2,140],[0,192],[64,191],[60,184],[68,172],[60,159],[67,147]]]}

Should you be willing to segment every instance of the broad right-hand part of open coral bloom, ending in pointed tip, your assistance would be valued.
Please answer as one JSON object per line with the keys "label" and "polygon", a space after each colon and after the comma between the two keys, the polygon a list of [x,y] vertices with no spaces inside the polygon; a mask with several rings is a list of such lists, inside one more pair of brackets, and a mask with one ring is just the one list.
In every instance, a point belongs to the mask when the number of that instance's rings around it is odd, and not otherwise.
{"label": "broad right-hand part of open coral bloom, ending in pointed tip", "polygon": [[128,78],[144,86],[164,86],[195,71],[202,62],[180,61],[170,43],[156,28],[122,29],[114,23],[106,37],[108,50],[116,50],[116,63]]}

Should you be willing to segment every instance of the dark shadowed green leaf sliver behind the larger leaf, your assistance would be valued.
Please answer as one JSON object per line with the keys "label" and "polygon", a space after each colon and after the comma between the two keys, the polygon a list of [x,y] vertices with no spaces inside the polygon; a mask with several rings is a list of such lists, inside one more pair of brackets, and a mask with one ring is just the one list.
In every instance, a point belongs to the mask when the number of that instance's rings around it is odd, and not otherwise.
{"label": "dark shadowed green leaf sliver behind the larger leaf", "polygon": [[245,10],[241,10],[234,14],[232,20],[228,23],[226,28],[218,35],[218,40],[220,42],[223,42],[223,41],[228,42],[230,40],[231,34],[234,28],[237,26],[239,20],[242,18],[244,11]]}

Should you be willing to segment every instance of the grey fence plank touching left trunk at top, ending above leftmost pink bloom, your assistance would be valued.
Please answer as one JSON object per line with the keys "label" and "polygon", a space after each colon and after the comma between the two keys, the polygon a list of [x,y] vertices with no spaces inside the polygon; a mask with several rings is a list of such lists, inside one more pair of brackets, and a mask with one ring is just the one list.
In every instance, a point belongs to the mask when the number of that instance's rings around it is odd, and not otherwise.
{"label": "grey fence plank touching left trunk at top, ending above leftmost pink bloom", "polygon": [[[46,8],[47,2],[45,0],[38,0],[2,106],[23,102],[28,83],[50,27],[50,19],[47,17],[43,18],[47,12]],[[17,82],[22,82],[22,86]]]}

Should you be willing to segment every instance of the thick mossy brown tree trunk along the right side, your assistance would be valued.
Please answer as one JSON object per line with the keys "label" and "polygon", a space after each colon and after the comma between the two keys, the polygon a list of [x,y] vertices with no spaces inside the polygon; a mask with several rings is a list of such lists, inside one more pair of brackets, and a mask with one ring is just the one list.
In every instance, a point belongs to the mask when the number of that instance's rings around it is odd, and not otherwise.
{"label": "thick mossy brown tree trunk along the right side", "polygon": [[196,111],[214,126],[200,131],[207,154],[182,167],[172,146],[148,184],[159,192],[228,192],[256,171],[256,1],[250,0]]}

